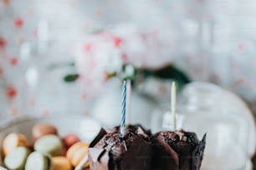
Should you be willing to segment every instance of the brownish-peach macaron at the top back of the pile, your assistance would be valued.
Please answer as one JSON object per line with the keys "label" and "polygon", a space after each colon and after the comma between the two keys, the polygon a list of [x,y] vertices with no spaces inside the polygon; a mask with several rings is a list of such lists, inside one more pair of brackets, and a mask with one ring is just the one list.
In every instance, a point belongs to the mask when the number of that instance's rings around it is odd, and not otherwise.
{"label": "brownish-peach macaron at the top back of the pile", "polygon": [[58,135],[57,128],[51,123],[41,122],[34,125],[32,128],[32,137],[34,141],[49,134]]}

